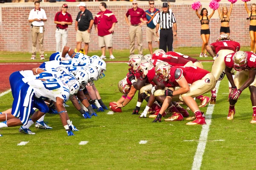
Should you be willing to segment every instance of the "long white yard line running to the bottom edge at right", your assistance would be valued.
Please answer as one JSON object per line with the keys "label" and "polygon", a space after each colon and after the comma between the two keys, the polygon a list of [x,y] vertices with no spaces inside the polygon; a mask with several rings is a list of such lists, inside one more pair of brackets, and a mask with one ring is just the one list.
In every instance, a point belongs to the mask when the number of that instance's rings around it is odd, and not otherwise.
{"label": "long white yard line running to the bottom edge at right", "polygon": [[[220,81],[218,81],[216,86],[215,86],[216,94],[218,93],[219,86],[220,86]],[[208,136],[208,132],[209,132],[209,129],[210,129],[211,122],[212,122],[211,119],[212,119],[212,112],[214,110],[214,106],[215,105],[209,104],[208,107],[207,107],[207,112],[205,114],[206,125],[202,126],[202,131],[201,131],[201,134],[200,134],[198,147],[196,149],[196,153],[195,153],[195,156],[194,156],[192,170],[200,170],[202,160],[203,160],[204,150],[205,150],[205,146],[206,146],[206,142],[207,142],[207,136]]]}

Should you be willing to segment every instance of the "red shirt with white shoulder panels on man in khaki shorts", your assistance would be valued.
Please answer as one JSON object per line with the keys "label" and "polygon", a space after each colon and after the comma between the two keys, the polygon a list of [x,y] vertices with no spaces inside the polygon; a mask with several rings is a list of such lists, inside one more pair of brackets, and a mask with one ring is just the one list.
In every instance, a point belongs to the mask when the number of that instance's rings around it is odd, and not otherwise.
{"label": "red shirt with white shoulder panels on man in khaki shorts", "polygon": [[108,9],[100,11],[94,18],[94,24],[97,25],[99,36],[112,34],[113,32],[108,30],[112,27],[113,23],[117,23],[116,16]]}

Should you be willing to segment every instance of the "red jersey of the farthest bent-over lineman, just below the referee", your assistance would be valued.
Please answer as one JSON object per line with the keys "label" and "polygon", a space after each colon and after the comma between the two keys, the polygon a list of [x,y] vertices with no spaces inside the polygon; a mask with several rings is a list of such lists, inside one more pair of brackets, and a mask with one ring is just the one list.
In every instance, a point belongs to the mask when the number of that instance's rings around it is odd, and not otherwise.
{"label": "red jersey of the farthest bent-over lineman, just below the referee", "polygon": [[171,55],[166,54],[153,54],[151,62],[153,62],[153,65],[157,65],[159,62],[168,62],[169,65],[173,66],[184,66],[187,62],[189,62],[188,59],[184,59],[182,57],[174,57]]}

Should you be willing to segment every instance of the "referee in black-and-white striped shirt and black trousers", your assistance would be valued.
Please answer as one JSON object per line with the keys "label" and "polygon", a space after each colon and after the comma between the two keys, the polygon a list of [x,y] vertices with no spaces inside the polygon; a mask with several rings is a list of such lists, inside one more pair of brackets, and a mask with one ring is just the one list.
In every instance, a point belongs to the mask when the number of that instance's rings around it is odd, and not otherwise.
{"label": "referee in black-and-white striped shirt and black trousers", "polygon": [[[169,6],[169,10],[168,10]],[[163,49],[165,52],[166,45],[168,51],[173,51],[172,43],[173,43],[173,36],[177,35],[177,25],[176,19],[174,14],[172,13],[171,6],[168,3],[163,3],[162,6],[163,11],[157,16],[157,26],[156,26],[156,33],[157,37],[160,37],[159,40],[159,48]],[[158,34],[158,29],[160,26],[160,35]],[[174,33],[172,32],[172,26],[174,28]]]}

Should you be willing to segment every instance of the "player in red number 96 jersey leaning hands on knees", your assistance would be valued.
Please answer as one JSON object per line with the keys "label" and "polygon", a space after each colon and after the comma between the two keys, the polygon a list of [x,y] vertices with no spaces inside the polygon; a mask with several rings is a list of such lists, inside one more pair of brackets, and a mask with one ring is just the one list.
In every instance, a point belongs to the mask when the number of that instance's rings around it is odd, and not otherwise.
{"label": "player in red number 96 jersey leaning hands on knees", "polygon": [[[253,119],[250,123],[256,123],[256,55],[249,51],[238,51],[227,55],[224,61],[226,65],[225,72],[232,85],[227,119],[232,120],[234,118],[236,113],[235,104],[242,91],[249,87],[250,99],[253,105]],[[237,71],[234,79],[231,74],[232,68]]]}

